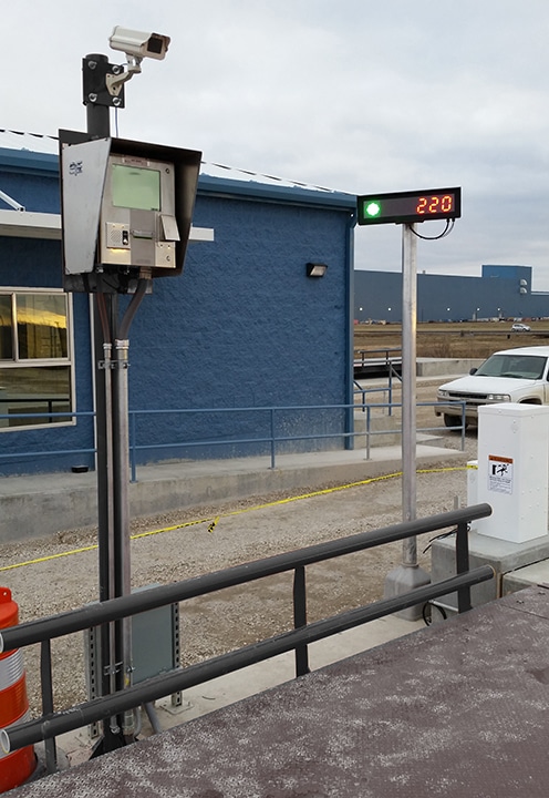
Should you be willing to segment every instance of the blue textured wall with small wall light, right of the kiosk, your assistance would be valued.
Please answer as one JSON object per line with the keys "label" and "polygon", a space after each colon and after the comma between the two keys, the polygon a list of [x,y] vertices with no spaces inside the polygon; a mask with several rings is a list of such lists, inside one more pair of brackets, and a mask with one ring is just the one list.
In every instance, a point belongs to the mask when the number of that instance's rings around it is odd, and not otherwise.
{"label": "blue textured wall with small wall light, right of the kiosk", "polygon": [[[132,327],[131,408],[250,410],[139,419],[139,439],[265,437],[270,415],[252,408],[345,403],[346,215],[199,196],[195,224],[216,241],[189,246],[183,276],[157,280]],[[308,278],[309,260],[327,263],[325,277]],[[277,436],[343,431],[344,413],[279,411],[276,424]],[[174,454],[258,451],[268,444]]]}

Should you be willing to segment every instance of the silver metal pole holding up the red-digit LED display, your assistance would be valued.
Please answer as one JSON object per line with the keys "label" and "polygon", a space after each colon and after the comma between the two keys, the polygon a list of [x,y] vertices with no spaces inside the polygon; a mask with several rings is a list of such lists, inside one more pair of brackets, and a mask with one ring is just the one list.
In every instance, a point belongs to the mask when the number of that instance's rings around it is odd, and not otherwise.
{"label": "silver metal pole holding up the red-digit LED display", "polygon": [[[402,226],[402,520],[416,516],[416,323],[417,238]],[[403,564],[417,565],[417,541],[403,543]]]}

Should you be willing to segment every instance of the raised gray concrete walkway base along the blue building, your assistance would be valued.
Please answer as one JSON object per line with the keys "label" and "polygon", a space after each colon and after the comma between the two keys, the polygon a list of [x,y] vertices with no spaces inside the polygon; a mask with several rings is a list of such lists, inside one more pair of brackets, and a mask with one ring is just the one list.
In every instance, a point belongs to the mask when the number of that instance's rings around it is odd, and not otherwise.
{"label": "raised gray concrete walkway base along the blue building", "polygon": [[[463,452],[418,446],[422,468],[441,461],[464,463]],[[143,466],[130,485],[132,518],[154,515],[216,501],[231,501],[331,483],[359,482],[402,469],[400,446],[375,447],[365,459],[352,451],[279,454],[270,458],[193,460]],[[40,538],[97,522],[96,475],[89,473],[33,474],[0,479],[0,542]]]}

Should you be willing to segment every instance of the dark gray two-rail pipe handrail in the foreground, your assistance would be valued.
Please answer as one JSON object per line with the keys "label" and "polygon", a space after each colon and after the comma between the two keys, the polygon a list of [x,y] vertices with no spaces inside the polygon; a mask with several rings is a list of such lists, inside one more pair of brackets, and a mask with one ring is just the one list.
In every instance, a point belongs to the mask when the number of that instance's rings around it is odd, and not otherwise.
{"label": "dark gray two-rail pipe handrail in the foreground", "polygon": [[[51,769],[55,769],[55,755],[51,750],[51,744],[54,745],[54,738],[60,734],[81,728],[90,723],[106,720],[115,714],[135,708],[141,704],[187,689],[190,686],[292,649],[296,653],[296,675],[303,675],[309,672],[307,648],[309,643],[323,640],[344,630],[354,628],[367,621],[432,601],[447,593],[457,591],[458,612],[466,612],[472,607],[470,586],[494,577],[494,570],[488,565],[469,570],[468,523],[490,514],[491,508],[489,504],[462,508],[427,519],[393,524],[372,532],[362,532],[341,540],[319,543],[213,574],[153,587],[52,617],[30,621],[19,626],[4,628],[0,634],[0,652],[21,648],[35,643],[41,644],[42,702],[49,712],[44,710],[41,718],[11,727],[9,730],[1,730],[0,745],[6,751],[9,751],[45,740],[50,750],[49,763]],[[341,615],[307,624],[304,581],[304,567],[307,565],[454,525],[456,526],[456,576],[436,584],[416,587],[400,596],[375,602],[369,606],[361,606]],[[141,682],[138,685],[108,696],[100,696],[60,713],[52,710],[51,641],[53,638],[118,621],[174,602],[206,595],[222,587],[245,584],[292,570],[294,571],[293,631],[214,657],[205,663],[155,676]]]}

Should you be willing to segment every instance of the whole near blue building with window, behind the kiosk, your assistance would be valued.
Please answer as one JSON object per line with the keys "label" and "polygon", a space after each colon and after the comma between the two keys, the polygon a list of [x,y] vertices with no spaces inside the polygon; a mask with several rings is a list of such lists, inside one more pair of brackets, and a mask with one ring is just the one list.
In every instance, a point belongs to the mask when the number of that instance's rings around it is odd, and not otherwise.
{"label": "whole near blue building with window, behind the kiosk", "polygon": [[[94,466],[90,297],[62,290],[56,144],[37,144],[0,147],[0,474]],[[349,444],[354,209],[352,195],[200,175],[194,225],[214,239],[155,280],[130,332],[139,462],[268,451],[272,423],[287,450]],[[334,437],[305,440],[318,433]]]}

